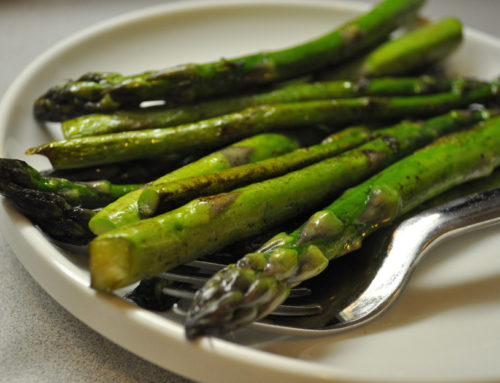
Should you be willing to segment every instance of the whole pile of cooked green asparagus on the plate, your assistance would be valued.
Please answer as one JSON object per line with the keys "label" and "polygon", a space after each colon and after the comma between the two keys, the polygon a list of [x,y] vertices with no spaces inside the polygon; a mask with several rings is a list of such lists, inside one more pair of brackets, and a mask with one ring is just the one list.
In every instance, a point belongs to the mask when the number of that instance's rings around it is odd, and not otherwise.
{"label": "whole pile of cooked green asparagus on the plate", "polygon": [[423,3],[381,1],[279,51],[54,86],[35,116],[65,140],[27,150],[53,169],[0,159],[0,192],[51,238],[88,244],[101,291],[264,237],[199,290],[186,335],[258,320],[367,235],[500,164],[499,83],[429,74],[462,25],[422,21]]}

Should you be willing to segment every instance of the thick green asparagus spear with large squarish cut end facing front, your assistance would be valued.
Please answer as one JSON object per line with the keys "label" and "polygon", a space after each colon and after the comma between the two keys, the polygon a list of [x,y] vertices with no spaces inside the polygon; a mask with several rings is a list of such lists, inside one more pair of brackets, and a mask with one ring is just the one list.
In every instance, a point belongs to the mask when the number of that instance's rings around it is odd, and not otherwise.
{"label": "thick green asparagus spear with large squarish cut end facing front", "polygon": [[126,286],[263,232],[437,136],[488,116],[487,111],[456,111],[425,123],[403,122],[337,157],[109,231],[90,243],[91,285],[107,291]]}

